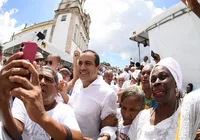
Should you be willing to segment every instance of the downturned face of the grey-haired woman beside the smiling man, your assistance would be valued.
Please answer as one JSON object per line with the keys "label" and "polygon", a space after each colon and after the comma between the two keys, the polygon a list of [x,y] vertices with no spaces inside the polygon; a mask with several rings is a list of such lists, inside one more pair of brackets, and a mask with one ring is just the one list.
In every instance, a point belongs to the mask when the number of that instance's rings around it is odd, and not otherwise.
{"label": "downturned face of the grey-haired woman beside the smiling man", "polygon": [[130,125],[137,114],[143,109],[139,96],[128,96],[121,102],[121,114],[124,125]]}

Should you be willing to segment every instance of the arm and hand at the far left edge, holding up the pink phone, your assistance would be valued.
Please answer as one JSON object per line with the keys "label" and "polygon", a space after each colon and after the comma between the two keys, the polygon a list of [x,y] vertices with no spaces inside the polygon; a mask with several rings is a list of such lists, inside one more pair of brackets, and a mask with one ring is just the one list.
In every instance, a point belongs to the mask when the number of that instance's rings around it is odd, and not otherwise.
{"label": "arm and hand at the far left edge, holding up the pink phone", "polygon": [[0,73],[0,110],[3,117],[3,126],[12,139],[19,139],[24,130],[24,124],[13,118],[9,105],[11,89],[20,86],[19,84],[10,82],[9,76],[16,74],[27,76],[29,74],[23,68],[16,68],[16,66],[21,65],[21,62],[17,59],[20,59],[22,55],[20,52],[11,56]]}

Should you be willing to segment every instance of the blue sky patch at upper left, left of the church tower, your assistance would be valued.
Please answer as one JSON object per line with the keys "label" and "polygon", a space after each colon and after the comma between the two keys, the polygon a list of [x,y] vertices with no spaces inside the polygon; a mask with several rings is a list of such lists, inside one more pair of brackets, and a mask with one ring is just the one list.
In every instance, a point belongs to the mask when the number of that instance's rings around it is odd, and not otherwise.
{"label": "blue sky patch at upper left, left of the church tower", "polygon": [[18,12],[12,17],[17,20],[17,25],[34,24],[50,20],[54,16],[60,0],[8,0],[2,7],[4,11],[12,8]]}

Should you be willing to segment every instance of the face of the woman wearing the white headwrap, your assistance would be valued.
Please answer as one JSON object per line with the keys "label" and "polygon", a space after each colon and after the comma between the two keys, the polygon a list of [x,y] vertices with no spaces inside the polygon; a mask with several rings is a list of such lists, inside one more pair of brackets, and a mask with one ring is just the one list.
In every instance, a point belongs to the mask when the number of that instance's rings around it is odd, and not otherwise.
{"label": "face of the woman wearing the white headwrap", "polygon": [[157,66],[152,71],[151,88],[154,99],[159,103],[173,101],[176,98],[176,83],[165,66]]}

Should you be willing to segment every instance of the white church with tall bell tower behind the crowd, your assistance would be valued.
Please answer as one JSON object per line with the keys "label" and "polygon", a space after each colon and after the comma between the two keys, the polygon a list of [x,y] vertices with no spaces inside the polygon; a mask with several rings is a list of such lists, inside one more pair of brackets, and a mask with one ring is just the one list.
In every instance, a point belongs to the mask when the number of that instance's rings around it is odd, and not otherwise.
{"label": "white church with tall bell tower behind the crowd", "polygon": [[84,10],[84,3],[85,0],[61,0],[53,20],[25,27],[13,35],[4,44],[4,53],[12,54],[18,51],[21,42],[33,41],[44,54],[57,53],[71,63],[74,50],[88,49],[90,40],[91,18]]}

